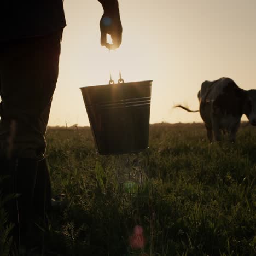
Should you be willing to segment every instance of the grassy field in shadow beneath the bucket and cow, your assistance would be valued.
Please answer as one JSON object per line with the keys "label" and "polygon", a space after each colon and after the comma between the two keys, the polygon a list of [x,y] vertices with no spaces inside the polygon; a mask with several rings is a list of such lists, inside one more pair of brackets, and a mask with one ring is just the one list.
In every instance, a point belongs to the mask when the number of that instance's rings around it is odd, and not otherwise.
{"label": "grassy field in shadow beneath the bucket and cow", "polygon": [[47,139],[67,206],[42,231],[42,255],[256,255],[254,127],[209,144],[202,124],[155,124],[147,150],[109,156],[89,127]]}

